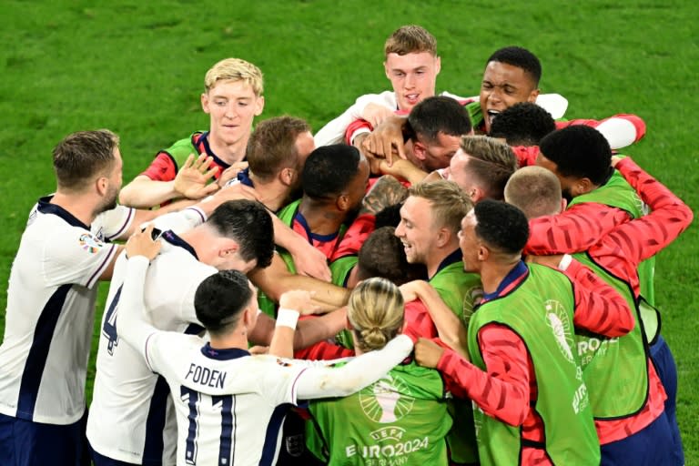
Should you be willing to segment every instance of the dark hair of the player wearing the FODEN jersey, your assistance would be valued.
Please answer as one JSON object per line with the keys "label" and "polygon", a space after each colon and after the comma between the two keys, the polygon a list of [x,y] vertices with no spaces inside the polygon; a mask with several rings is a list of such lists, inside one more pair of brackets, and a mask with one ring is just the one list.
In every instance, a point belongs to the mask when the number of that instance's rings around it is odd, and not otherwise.
{"label": "dark hair of the player wearing the FODEN jersey", "polygon": [[236,327],[252,296],[243,272],[220,270],[199,283],[194,294],[197,319],[209,333],[221,335]]}

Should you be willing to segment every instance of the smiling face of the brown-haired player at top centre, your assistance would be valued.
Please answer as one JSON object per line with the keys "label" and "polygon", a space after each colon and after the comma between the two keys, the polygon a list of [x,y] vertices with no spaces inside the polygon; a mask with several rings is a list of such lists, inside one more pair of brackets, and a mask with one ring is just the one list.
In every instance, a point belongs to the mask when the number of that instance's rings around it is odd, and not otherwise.
{"label": "smiling face of the brown-haired player at top centre", "polygon": [[410,111],[421,100],[434,96],[437,75],[440,73],[439,56],[430,52],[398,55],[390,53],[383,64],[390,79],[400,110]]}

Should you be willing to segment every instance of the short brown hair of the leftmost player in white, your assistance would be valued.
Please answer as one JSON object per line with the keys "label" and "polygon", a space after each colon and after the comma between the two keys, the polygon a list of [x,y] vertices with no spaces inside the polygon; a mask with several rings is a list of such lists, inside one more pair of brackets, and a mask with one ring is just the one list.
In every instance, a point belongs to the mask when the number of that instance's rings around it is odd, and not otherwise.
{"label": "short brown hair of the leftmost player in white", "polygon": [[108,129],[78,131],[66,136],[53,151],[58,188],[82,191],[115,163],[119,137]]}

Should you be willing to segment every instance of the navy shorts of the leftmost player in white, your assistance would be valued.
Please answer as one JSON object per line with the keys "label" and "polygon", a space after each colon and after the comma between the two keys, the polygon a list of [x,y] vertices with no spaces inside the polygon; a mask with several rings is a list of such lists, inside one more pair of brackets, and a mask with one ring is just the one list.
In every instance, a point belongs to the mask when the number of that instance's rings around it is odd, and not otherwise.
{"label": "navy shorts of the leftmost player in white", "polygon": [[42,424],[0,414],[3,466],[89,466],[86,415],[73,424]]}

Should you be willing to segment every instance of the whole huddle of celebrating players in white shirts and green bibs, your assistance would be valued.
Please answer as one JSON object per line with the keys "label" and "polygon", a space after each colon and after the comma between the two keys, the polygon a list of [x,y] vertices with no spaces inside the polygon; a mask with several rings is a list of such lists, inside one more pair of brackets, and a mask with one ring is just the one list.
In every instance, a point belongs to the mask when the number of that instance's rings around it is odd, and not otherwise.
{"label": "whole huddle of celebrating players in white shirts and green bibs", "polygon": [[262,73],[222,60],[208,131],[123,188],[111,131],[54,148],[10,276],[0,464],[684,464],[653,256],[693,216],[619,154],[643,120],[563,119],[518,46],[479,96],[435,95],[418,25],[384,66],[393,89],[314,136],[253,131]]}

